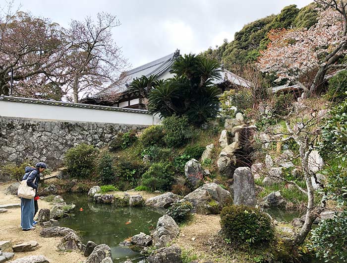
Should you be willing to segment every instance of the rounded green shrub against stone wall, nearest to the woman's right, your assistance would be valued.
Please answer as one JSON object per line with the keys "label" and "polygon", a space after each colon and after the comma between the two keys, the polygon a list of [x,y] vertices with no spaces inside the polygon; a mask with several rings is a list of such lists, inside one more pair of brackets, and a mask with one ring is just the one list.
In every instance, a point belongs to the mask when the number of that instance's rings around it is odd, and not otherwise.
{"label": "rounded green shrub against stone wall, nearest to the woman's right", "polygon": [[77,178],[90,178],[94,171],[97,154],[97,148],[84,143],[68,149],[64,156],[64,164],[69,175]]}

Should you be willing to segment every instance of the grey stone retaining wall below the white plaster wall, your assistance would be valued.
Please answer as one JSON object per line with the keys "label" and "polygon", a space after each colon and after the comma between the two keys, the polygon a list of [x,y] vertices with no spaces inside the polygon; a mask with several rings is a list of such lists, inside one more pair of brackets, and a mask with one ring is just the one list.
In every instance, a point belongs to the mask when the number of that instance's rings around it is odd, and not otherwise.
{"label": "grey stone retaining wall below the white plaster wall", "polygon": [[28,160],[44,161],[57,168],[62,165],[66,150],[77,144],[88,143],[101,148],[118,132],[146,127],[0,117],[0,165]]}

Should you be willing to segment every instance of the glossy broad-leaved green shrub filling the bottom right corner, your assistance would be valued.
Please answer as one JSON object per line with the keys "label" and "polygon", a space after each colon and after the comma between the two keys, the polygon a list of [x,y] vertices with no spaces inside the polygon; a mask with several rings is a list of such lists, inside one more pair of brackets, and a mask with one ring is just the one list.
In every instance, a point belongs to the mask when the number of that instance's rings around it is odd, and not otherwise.
{"label": "glossy broad-leaved green shrub filling the bottom right corner", "polygon": [[309,249],[325,262],[347,262],[347,211],[334,218],[323,220],[311,231]]}

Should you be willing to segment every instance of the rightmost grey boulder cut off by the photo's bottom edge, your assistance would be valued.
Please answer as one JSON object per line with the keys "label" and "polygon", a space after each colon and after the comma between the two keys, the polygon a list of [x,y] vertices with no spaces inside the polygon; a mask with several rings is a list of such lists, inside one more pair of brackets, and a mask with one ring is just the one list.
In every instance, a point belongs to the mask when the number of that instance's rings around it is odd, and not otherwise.
{"label": "rightmost grey boulder cut off by the photo's bottom edge", "polygon": [[147,261],[149,263],[182,263],[181,254],[177,246],[161,248],[153,251]]}

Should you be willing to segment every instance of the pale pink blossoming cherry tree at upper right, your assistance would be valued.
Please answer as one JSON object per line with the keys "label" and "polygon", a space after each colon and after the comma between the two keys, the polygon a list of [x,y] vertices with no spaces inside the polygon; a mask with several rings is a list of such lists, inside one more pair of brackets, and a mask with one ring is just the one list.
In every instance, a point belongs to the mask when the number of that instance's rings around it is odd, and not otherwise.
{"label": "pale pink blossoming cherry tree at upper right", "polygon": [[299,84],[307,96],[320,94],[329,71],[346,67],[339,60],[347,53],[347,3],[316,2],[321,4],[317,23],[309,29],[270,31],[271,42],[258,61],[262,72]]}

